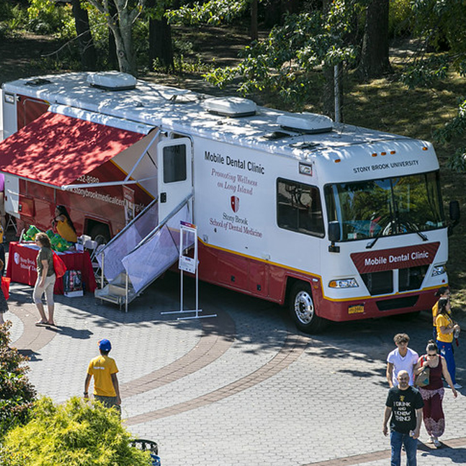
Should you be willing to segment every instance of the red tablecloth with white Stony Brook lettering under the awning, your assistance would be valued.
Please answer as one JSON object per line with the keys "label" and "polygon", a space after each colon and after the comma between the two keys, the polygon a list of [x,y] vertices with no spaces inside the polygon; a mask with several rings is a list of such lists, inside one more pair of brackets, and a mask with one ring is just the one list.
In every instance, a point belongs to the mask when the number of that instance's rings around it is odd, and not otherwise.
{"label": "red tablecloth with white Stony Brook lettering under the awning", "polygon": [[[6,276],[12,282],[24,283],[34,286],[37,279],[36,258],[39,248],[31,244],[19,244],[10,242],[8,247],[8,267]],[[91,258],[85,252],[59,252],[68,270],[80,270],[82,283],[85,284],[86,291],[94,292],[96,289],[96,279],[92,269]],[[55,294],[63,294],[63,279],[57,278],[54,287]]]}

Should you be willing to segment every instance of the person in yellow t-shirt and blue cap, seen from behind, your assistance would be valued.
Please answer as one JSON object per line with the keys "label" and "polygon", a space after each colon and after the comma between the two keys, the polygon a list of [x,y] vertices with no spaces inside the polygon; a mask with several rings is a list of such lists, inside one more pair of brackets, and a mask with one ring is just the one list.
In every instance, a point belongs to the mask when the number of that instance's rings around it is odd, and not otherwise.
{"label": "person in yellow t-shirt and blue cap, seen from behind", "polygon": [[117,364],[115,359],[110,358],[112,345],[106,339],[99,342],[101,356],[96,356],[87,367],[87,375],[84,384],[84,398],[89,398],[89,384],[94,377],[94,398],[99,400],[105,407],[115,407],[121,414],[122,400],[119,396],[119,385],[117,379]]}

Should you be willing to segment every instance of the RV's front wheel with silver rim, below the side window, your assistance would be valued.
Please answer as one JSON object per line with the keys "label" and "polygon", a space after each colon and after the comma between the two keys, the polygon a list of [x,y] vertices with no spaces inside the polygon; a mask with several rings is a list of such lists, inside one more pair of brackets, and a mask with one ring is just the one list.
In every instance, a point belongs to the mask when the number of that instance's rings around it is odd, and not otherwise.
{"label": "RV's front wheel with silver rim, below the side window", "polygon": [[326,326],[326,320],[316,315],[310,284],[298,282],[293,285],[289,300],[291,317],[305,333],[319,333]]}

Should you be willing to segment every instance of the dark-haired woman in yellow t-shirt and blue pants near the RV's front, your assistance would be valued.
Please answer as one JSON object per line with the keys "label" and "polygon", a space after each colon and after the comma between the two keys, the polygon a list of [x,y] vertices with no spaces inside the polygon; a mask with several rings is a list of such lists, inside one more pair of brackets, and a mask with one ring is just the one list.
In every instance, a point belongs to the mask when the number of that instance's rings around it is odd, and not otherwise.
{"label": "dark-haired woman in yellow t-shirt and blue pants near the RV's front", "polygon": [[453,356],[453,334],[459,333],[460,326],[454,323],[450,317],[450,301],[447,298],[440,298],[437,317],[435,318],[435,326],[437,327],[437,347],[440,354],[444,356],[446,365],[453,381],[455,388],[461,388],[460,384],[456,383],[456,364]]}

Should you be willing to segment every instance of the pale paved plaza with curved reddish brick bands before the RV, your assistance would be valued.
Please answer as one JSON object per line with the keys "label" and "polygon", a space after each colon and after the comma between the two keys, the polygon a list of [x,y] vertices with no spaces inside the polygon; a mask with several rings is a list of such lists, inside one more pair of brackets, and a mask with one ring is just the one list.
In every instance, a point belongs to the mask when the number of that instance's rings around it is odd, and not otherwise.
{"label": "pale paved plaza with curved reddish brick bands before the RV", "polygon": [[[310,337],[282,308],[207,284],[201,307],[217,318],[177,321],[161,314],[179,307],[178,279],[170,274],[127,314],[91,295],[57,296],[53,330],[34,326],[31,291],[12,284],[6,317],[13,346],[31,358],[39,393],[57,402],[82,395],[97,342],[110,339],[126,426],[159,443],[163,466],[388,465],[381,434],[386,354],[399,331],[419,352],[431,335],[425,313],[416,321],[334,324]],[[465,347],[456,353],[464,382]],[[446,390],[444,448],[421,443],[418,465],[466,463],[465,395],[454,400]],[[427,438],[422,429],[421,442]]]}

